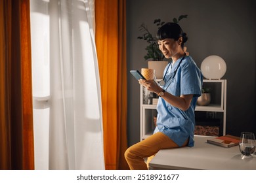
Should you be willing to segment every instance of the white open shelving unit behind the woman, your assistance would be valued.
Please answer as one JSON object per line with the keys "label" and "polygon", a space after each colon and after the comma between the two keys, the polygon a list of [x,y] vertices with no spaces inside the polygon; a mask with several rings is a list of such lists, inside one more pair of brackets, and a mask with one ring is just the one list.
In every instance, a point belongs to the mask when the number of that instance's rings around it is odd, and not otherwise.
{"label": "white open shelving unit behind the woman", "polygon": [[[226,80],[203,80],[203,83],[221,84],[221,100],[210,103],[207,106],[196,106],[196,111],[222,112],[223,113],[223,135],[226,135]],[[146,139],[154,132],[154,118],[157,115],[156,105],[152,104],[152,94],[140,86],[140,141]],[[148,95],[148,100],[145,100]],[[156,96],[154,96],[156,97]]]}

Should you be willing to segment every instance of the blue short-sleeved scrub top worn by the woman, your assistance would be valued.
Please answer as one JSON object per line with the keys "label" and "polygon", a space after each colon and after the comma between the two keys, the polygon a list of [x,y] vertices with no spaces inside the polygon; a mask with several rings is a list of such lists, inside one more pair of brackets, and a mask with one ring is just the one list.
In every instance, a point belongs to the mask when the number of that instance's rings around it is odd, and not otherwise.
{"label": "blue short-sleeved scrub top worn by the woman", "polygon": [[[165,67],[165,85],[162,88],[172,95],[193,94],[193,99],[188,110],[184,111],[173,107],[164,99],[158,99],[158,119],[154,133],[161,131],[179,146],[189,138],[188,146],[194,146],[194,127],[196,101],[202,94],[203,76],[200,69],[190,56],[185,56],[175,61],[172,67]],[[179,63],[181,64],[179,65]],[[171,63],[170,63],[171,64]],[[167,71],[168,69],[168,71]],[[174,71],[177,73],[173,77]]]}

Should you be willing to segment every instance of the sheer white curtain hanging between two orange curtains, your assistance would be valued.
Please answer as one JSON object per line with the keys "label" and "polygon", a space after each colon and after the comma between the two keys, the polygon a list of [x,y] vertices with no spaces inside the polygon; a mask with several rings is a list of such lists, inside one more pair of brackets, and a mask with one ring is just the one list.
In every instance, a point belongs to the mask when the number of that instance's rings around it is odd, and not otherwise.
{"label": "sheer white curtain hanging between two orange curtains", "polygon": [[94,0],[31,0],[35,169],[104,169]]}

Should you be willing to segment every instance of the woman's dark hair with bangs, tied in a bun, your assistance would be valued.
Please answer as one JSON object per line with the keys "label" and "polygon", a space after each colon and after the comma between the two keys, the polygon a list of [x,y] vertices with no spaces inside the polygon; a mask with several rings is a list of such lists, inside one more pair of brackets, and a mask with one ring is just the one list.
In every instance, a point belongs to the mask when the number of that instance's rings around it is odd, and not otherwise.
{"label": "woman's dark hair with bangs, tied in a bun", "polygon": [[158,29],[156,40],[174,39],[175,41],[178,41],[179,37],[182,37],[181,47],[183,48],[184,43],[188,40],[186,33],[183,33],[179,24],[168,22]]}

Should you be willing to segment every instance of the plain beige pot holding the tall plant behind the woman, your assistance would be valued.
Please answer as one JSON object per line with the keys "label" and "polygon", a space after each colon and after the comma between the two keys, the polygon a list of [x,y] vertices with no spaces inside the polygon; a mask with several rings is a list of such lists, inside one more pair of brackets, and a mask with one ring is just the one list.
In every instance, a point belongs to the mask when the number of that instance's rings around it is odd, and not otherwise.
{"label": "plain beige pot holding the tall plant behind the woman", "polygon": [[155,69],[156,78],[161,79],[167,64],[168,61],[148,61],[148,69]]}

